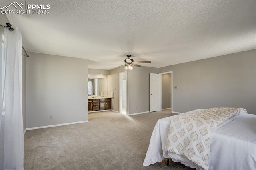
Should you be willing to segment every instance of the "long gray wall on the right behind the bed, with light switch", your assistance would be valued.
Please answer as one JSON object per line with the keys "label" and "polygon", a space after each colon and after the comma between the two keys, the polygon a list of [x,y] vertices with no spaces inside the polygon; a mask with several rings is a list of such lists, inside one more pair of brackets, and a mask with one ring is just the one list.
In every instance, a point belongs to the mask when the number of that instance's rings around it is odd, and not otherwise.
{"label": "long gray wall on the right behind the bed, with light switch", "polygon": [[244,107],[256,114],[256,50],[160,68],[173,71],[173,111]]}

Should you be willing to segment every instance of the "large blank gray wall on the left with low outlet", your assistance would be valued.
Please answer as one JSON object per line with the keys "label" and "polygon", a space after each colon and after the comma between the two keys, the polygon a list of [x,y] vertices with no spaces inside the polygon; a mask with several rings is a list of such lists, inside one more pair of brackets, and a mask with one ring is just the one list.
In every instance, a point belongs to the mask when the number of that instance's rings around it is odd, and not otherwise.
{"label": "large blank gray wall on the left with low outlet", "polygon": [[87,121],[88,60],[28,54],[26,128]]}

